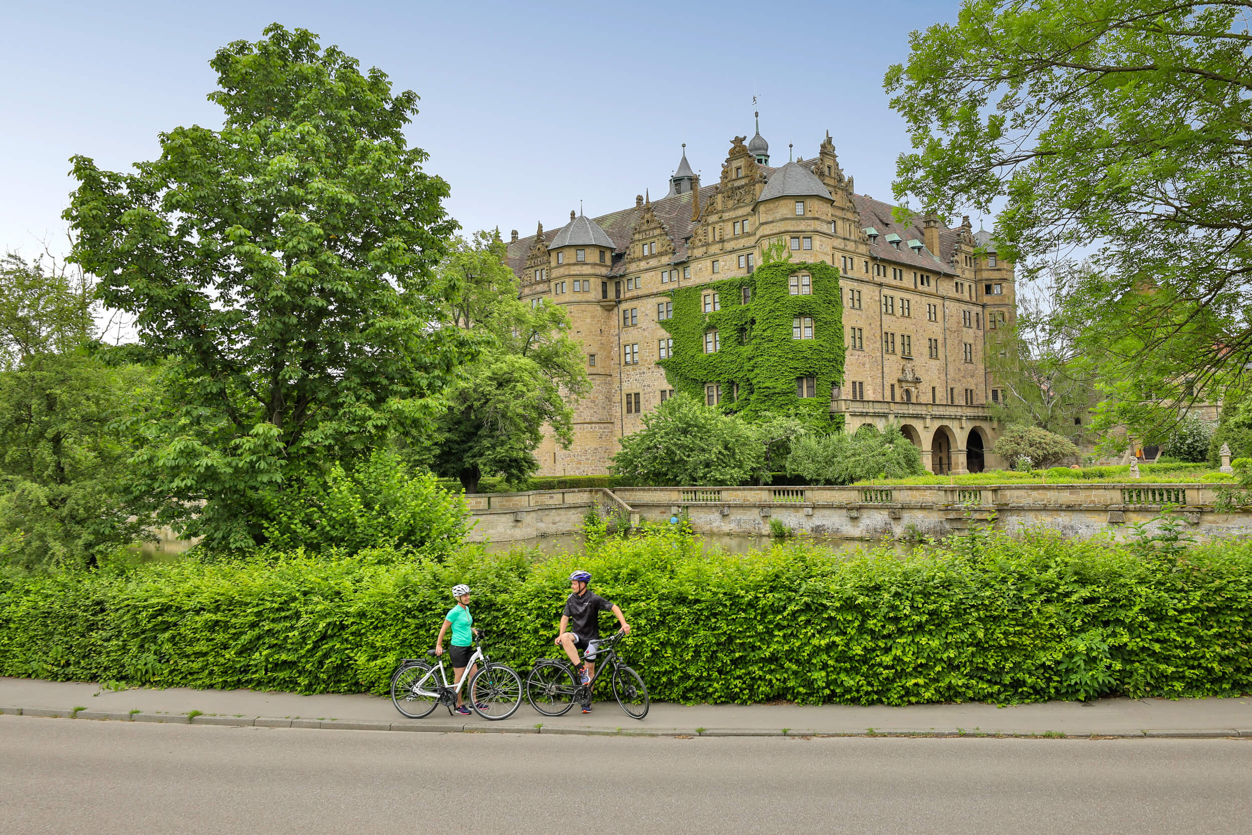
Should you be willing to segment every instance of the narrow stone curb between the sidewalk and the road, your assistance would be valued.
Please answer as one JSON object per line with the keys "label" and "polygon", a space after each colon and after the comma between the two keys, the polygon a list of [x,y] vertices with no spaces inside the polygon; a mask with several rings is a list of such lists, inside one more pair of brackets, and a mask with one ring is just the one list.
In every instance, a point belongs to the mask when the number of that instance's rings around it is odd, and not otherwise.
{"label": "narrow stone curb between the sidewalk and the road", "polygon": [[635,737],[923,737],[923,739],[1062,739],[1062,740],[1092,740],[1092,739],[1169,739],[1169,740],[1214,740],[1214,739],[1252,739],[1252,727],[1246,729],[1208,729],[1208,730],[1142,730],[1142,731],[1097,731],[1083,730],[1075,732],[1064,731],[982,731],[970,729],[945,729],[931,727],[925,730],[889,730],[889,729],[860,729],[846,731],[816,731],[789,727],[786,730],[751,729],[751,727],[707,727],[707,729],[656,729],[656,727],[547,727],[543,725],[468,725],[463,722],[383,722],[367,720],[336,720],[336,719],[275,719],[268,716],[209,716],[197,714],[188,717],[187,714],[118,714],[99,710],[59,710],[51,707],[15,707],[0,706],[0,715],[5,716],[33,716],[39,719],[83,719],[94,721],[116,722],[155,722],[167,725],[217,725],[225,727],[303,727],[338,731],[408,731],[421,734],[547,734],[556,736],[635,736]]}

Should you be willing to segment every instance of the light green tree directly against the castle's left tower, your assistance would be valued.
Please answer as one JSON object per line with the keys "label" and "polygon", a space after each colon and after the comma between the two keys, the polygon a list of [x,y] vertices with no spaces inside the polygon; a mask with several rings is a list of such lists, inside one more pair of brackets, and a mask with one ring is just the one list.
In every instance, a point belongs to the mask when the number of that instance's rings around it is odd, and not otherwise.
{"label": "light green tree directly against the castle's left tower", "polygon": [[535,448],[548,427],[557,443],[573,438],[573,402],[590,389],[582,349],[560,305],[517,298],[498,230],[458,238],[439,265],[456,287],[456,323],[482,338],[477,361],[448,392],[434,436],[433,467],[458,478],[466,492],[483,476],[522,484],[538,469]]}

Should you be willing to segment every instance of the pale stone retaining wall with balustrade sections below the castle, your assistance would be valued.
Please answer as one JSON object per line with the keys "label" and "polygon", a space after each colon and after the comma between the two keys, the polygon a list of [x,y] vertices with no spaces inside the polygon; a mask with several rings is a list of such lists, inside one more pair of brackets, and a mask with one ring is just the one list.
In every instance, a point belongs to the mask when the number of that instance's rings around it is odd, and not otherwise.
{"label": "pale stone retaining wall with balustrade sections below the castle", "polygon": [[1133,535],[1164,506],[1197,538],[1252,533],[1252,513],[1218,513],[1213,484],[1089,483],[883,487],[618,487],[466,497],[473,541],[516,542],[577,531],[587,511],[626,512],[631,522],[686,512],[697,533],[766,536],[770,520],[821,537],[943,537],[994,516],[1009,533],[1045,526],[1067,536]]}

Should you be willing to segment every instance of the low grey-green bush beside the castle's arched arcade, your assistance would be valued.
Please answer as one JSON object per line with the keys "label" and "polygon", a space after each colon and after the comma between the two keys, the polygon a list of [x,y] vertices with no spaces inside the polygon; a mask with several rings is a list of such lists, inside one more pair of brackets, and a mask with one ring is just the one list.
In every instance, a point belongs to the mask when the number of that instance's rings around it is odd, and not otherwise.
{"label": "low grey-green bush beside the castle's arched arcade", "polygon": [[791,442],[788,472],[810,484],[850,484],[864,478],[908,478],[925,473],[921,451],[896,426],[881,433],[861,427],[856,434],[804,434]]}

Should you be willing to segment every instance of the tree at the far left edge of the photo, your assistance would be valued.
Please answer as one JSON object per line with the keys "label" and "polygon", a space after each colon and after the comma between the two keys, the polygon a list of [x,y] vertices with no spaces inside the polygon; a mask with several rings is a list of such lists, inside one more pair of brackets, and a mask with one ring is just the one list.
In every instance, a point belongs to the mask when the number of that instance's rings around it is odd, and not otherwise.
{"label": "tree at the far left edge of the photo", "polygon": [[0,259],[0,563],[90,567],[144,536],[121,421],[150,374],[99,359],[89,277]]}

